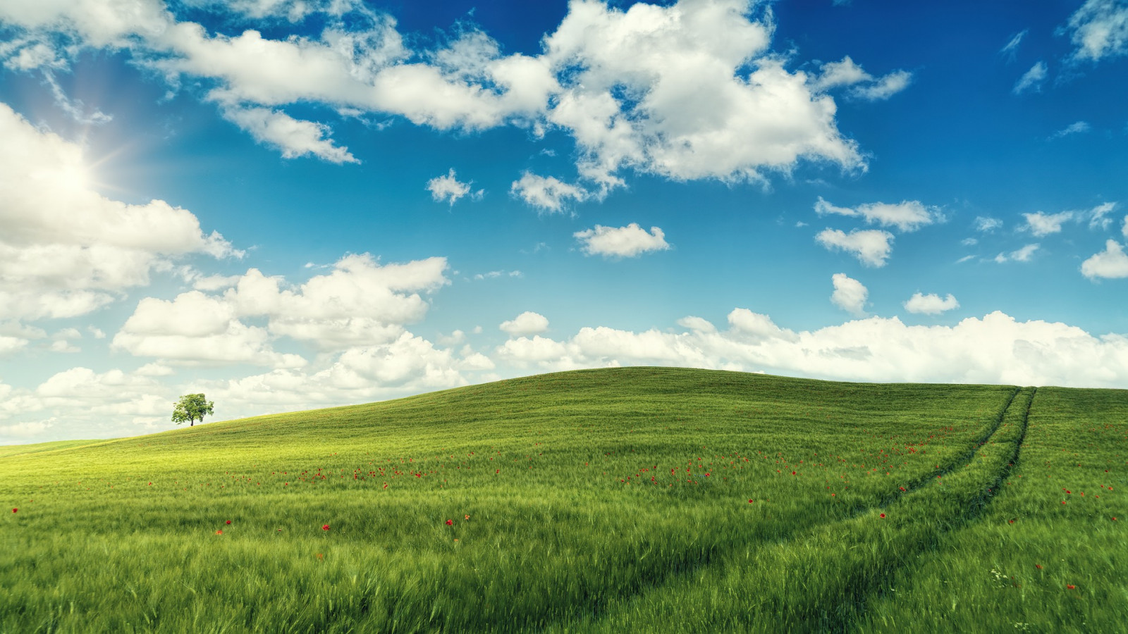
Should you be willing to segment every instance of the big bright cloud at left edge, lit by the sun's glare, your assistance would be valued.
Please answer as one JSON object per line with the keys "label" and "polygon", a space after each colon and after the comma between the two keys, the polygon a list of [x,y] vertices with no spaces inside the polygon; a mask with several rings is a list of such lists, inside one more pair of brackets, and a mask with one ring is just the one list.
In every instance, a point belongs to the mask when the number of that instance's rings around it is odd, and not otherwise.
{"label": "big bright cloud at left edge, lit by the sun's glare", "polygon": [[0,318],[85,315],[149,283],[168,258],[240,256],[165,201],[126,204],[89,182],[81,148],[0,104]]}

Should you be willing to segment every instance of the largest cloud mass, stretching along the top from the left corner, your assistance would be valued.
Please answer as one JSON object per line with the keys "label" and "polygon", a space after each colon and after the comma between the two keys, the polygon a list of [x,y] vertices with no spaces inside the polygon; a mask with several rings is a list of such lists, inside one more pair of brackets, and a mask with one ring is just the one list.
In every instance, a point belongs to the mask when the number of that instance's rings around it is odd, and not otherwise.
{"label": "largest cloud mass, stretching along the top from the left corner", "polygon": [[[229,11],[270,19],[272,33],[210,33],[159,0],[5,6],[0,20],[19,34],[5,63],[65,63],[86,49],[127,51],[175,90],[210,87],[205,98],[283,156],[353,162],[321,123],[287,108],[319,104],[338,113],[402,116],[439,130],[519,125],[558,130],[576,143],[572,190],[529,183],[530,204],[556,211],[583,192],[602,196],[631,169],[687,180],[763,182],[802,160],[861,170],[856,143],[836,125],[823,90],[849,86],[883,99],[908,85],[895,71],[874,78],[849,58],[809,78],[769,50],[773,24],[752,0],[636,3],[626,10],[572,0],[537,55],[503,54],[467,28],[432,50],[413,50],[393,18],[362,2],[197,1],[222,24]],[[324,24],[318,36],[288,34],[279,18]],[[65,45],[56,46],[62,42]],[[837,67],[835,65],[837,64]],[[558,180],[557,180],[558,182]],[[558,182],[559,183],[559,182]]]}

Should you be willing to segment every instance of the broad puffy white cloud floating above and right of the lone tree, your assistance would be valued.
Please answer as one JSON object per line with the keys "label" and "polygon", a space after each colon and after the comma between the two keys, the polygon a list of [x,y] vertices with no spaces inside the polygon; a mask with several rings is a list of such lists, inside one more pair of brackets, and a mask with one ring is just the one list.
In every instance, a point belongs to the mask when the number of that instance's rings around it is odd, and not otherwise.
{"label": "broad puffy white cloud floating above and right of the lone tree", "polygon": [[[273,338],[290,337],[321,351],[396,341],[405,324],[426,314],[420,292],[446,284],[446,268],[442,257],[380,265],[368,254],[347,255],[329,273],[292,289],[252,268],[222,294],[142,299],[113,345],[169,361],[298,368],[306,361],[274,352]],[[264,317],[265,327],[243,322]]]}

